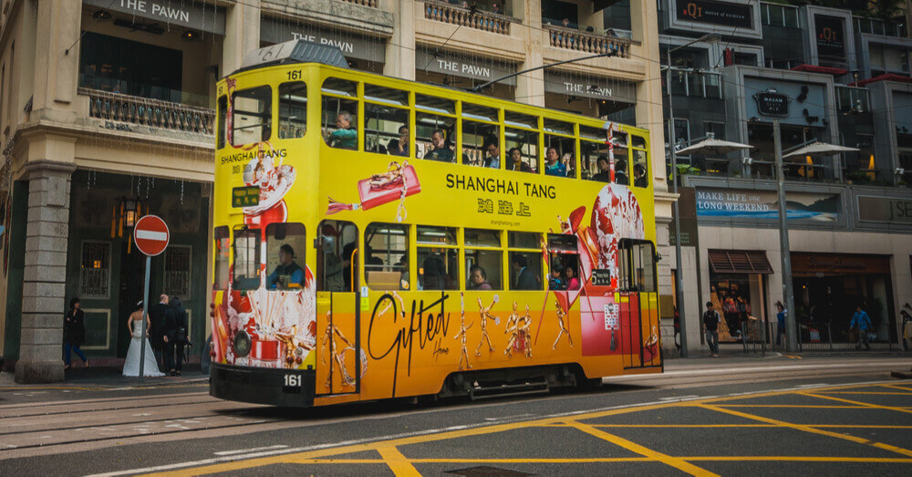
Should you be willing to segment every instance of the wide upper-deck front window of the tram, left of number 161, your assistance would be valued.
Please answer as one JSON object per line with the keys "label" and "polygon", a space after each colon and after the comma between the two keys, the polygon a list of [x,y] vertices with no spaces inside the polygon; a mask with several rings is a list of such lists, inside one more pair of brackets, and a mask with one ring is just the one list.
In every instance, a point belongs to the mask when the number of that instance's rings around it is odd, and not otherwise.
{"label": "wide upper-deck front window of the tram, left of number 161", "polygon": [[232,95],[233,146],[243,146],[272,136],[272,88],[260,86]]}

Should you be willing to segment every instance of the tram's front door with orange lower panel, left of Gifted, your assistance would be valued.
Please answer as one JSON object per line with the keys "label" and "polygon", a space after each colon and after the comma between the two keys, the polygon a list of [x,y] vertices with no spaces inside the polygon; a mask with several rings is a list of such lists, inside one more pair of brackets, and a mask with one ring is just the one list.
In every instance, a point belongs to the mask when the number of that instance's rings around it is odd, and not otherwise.
{"label": "tram's front door with orange lower panel, left of Gifted", "polygon": [[360,391],[358,228],[324,221],[316,239],[316,394]]}

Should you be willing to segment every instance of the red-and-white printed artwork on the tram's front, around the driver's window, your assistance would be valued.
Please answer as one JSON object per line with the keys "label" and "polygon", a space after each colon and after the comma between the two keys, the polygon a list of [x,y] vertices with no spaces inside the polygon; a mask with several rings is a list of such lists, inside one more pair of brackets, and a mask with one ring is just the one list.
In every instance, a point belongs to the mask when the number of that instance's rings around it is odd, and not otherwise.
{"label": "red-and-white printed artwork on the tram's front, around the driver's window", "polygon": [[[245,148],[257,152],[244,168],[244,184],[259,190],[259,202],[242,209],[248,229],[235,233],[233,280],[212,302],[213,358],[239,366],[302,368],[316,346],[316,281],[303,261],[303,225],[286,223],[285,194],[295,183],[295,168],[283,164],[268,142]],[[262,252],[264,260],[257,260]]]}

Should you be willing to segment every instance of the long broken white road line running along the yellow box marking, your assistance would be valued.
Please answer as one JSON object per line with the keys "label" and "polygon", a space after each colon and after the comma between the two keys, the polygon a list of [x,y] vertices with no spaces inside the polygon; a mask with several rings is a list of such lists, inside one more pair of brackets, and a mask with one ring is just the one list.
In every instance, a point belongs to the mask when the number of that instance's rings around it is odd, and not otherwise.
{"label": "long broken white road line running along the yellow box marking", "polygon": [[[895,382],[895,381],[893,381],[893,380],[867,381],[867,382],[852,383],[852,385],[864,386],[864,385],[870,385],[870,384],[884,384],[884,383],[893,383],[893,382]],[[790,389],[779,389],[779,391],[796,391],[796,390],[804,390],[804,389],[811,389],[811,388],[826,388],[826,387],[830,387],[830,386],[831,385],[802,386],[802,387],[795,387],[795,388],[790,388]],[[762,394],[764,392],[771,392],[771,391],[754,391],[751,394]],[[724,398],[724,397],[728,397],[728,396],[741,396],[743,394],[744,393],[734,393],[731,395],[708,396],[703,399]],[[606,411],[606,410],[623,410],[623,409],[629,409],[629,408],[640,408],[640,407],[644,407],[644,406],[655,406],[657,404],[668,404],[671,402],[686,401],[686,400],[690,400],[690,399],[678,398],[678,399],[669,399],[669,400],[657,400],[657,401],[653,401],[653,402],[640,402],[640,403],[636,403],[636,404],[625,404],[622,406],[610,406],[610,407],[606,407],[606,408],[597,408],[594,410],[575,410],[575,411],[570,411],[570,412],[559,412],[559,413],[555,413],[555,414],[547,414],[547,415],[540,416],[540,417],[536,418],[536,420],[544,420],[544,419],[552,419],[552,418],[565,418],[565,417],[570,417],[570,416],[576,416],[579,414],[588,414],[588,413],[592,413],[592,412],[602,412],[602,411]],[[351,440],[351,441],[328,442],[326,444],[317,444],[317,445],[312,445],[312,446],[296,447],[296,448],[291,448],[291,449],[278,449],[275,451],[259,451],[259,452],[251,452],[251,453],[247,453],[247,454],[232,454],[232,455],[226,455],[226,456],[220,456],[220,457],[213,457],[210,459],[201,459],[199,461],[177,462],[177,463],[171,463],[171,464],[160,465],[160,466],[155,466],[155,467],[130,469],[127,471],[95,473],[95,474],[89,475],[88,477],[116,477],[119,475],[135,475],[138,473],[173,471],[176,469],[185,469],[188,467],[199,467],[202,465],[209,465],[209,464],[219,463],[219,462],[240,461],[240,460],[245,460],[245,459],[255,459],[258,457],[269,457],[269,456],[273,456],[273,455],[292,454],[292,453],[306,452],[306,451],[319,451],[322,449],[331,449],[334,447],[345,447],[345,446],[349,446],[349,445],[366,444],[366,443],[377,442],[377,441],[390,441],[390,440],[394,440],[394,439],[402,439],[402,438],[407,438],[407,437],[424,436],[424,435],[429,435],[429,434],[439,434],[442,432],[451,432],[453,430],[467,430],[467,429],[475,429],[475,428],[480,428],[480,427],[488,427],[490,425],[492,425],[492,424],[485,422],[485,423],[476,423],[476,424],[465,424],[465,425],[461,425],[461,426],[450,426],[450,427],[441,428],[441,429],[416,430],[414,432],[403,432],[400,434],[390,434],[390,435],[386,435],[386,436],[378,436],[378,437],[371,437],[371,438],[365,438],[365,439],[355,439],[355,440]]]}

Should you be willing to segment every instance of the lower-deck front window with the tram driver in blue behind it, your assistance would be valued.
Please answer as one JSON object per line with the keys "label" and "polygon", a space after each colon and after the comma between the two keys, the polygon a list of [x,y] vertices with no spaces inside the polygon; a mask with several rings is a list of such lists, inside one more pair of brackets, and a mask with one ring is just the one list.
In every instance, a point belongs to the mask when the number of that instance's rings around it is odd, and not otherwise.
{"label": "lower-deck front window with the tram driver in blue behind it", "polygon": [[270,223],[266,226],[266,288],[300,290],[305,286],[304,225]]}

